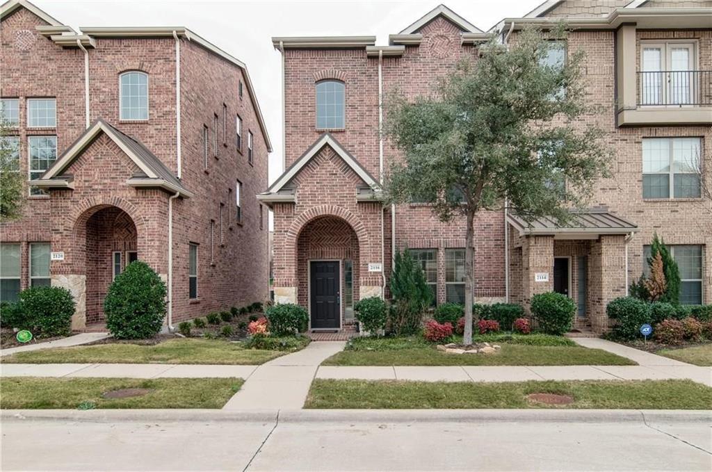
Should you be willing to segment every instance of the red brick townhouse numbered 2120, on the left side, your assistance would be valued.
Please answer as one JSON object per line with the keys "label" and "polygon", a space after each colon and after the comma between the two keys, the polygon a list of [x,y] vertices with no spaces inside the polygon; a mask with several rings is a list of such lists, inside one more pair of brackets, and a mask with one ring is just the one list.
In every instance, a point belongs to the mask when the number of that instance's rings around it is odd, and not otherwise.
{"label": "red brick townhouse numbered 2120, on the left side", "polygon": [[0,6],[1,110],[29,185],[1,228],[1,298],[68,288],[101,325],[136,259],[166,280],[171,323],[267,296],[271,144],[246,66],[187,28],[73,28]]}

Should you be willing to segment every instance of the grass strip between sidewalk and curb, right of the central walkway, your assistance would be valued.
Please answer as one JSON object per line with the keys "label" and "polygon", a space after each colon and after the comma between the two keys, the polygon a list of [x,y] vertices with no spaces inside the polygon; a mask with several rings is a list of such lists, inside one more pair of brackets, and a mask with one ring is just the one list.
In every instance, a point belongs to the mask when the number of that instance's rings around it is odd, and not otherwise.
{"label": "grass strip between sidewalk and curb, right of the central walkway", "polygon": [[[566,394],[567,405],[533,403],[533,393]],[[315,379],[311,409],[709,409],[712,388],[691,380],[530,381],[503,383]]]}

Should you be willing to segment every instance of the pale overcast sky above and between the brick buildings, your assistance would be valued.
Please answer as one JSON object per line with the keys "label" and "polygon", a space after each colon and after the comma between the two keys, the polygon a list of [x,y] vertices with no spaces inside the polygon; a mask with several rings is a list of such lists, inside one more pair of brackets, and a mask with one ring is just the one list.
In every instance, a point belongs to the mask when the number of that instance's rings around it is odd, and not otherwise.
{"label": "pale overcast sky above and between the brick buildings", "polygon": [[[438,4],[432,1],[105,1],[32,0],[61,23],[80,26],[185,26],[247,64],[274,152],[270,182],[282,173],[280,54],[272,36],[375,35],[377,44]],[[542,0],[448,0],[482,30],[523,16]]]}

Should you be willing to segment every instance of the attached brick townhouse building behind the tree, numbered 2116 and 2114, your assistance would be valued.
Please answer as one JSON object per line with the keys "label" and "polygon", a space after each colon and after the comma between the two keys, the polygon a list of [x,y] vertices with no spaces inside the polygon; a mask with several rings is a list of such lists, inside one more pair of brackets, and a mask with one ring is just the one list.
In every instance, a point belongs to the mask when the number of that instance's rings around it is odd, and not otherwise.
{"label": "attached brick townhouse building behind the tree, numbered 2116 and 2114", "polygon": [[[436,78],[495,35],[515,41],[562,19],[572,33],[547,61],[586,52],[587,96],[614,150],[590,211],[570,227],[506,211],[475,222],[473,296],[527,305],[555,290],[577,303],[577,325],[607,329],[605,305],[644,271],[654,232],[671,245],[683,303],[712,301],[710,185],[712,2],[546,1],[481,31],[438,6],[387,46],[375,36],[273,38],[283,58],[286,171],[258,198],[274,211],[276,300],[310,310],[312,329],[345,329],[355,300],[387,295],[394,251],[422,263],[437,303],[464,301],[464,221],[428,206],[384,206],[381,176],[397,151],[379,137],[384,94],[427,93]],[[701,169],[701,170],[700,170]],[[702,176],[701,176],[702,174]],[[707,174],[706,179],[703,178]]]}

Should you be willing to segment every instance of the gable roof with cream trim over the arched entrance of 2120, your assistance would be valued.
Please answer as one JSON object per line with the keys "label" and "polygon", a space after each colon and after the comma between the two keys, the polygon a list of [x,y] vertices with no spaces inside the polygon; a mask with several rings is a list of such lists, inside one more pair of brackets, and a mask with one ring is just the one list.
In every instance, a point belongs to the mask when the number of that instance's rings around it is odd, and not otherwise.
{"label": "gable roof with cream trim over the arched entrance of 2120", "polygon": [[73,142],[65,152],[42,175],[39,181],[32,181],[37,187],[67,187],[58,182],[65,181],[63,172],[79,157],[100,133],[105,133],[118,147],[141,169],[142,174],[127,181],[134,187],[160,187],[169,192],[179,192],[181,196],[193,196],[173,175],[168,167],[155,154],[150,152],[138,140],[126,135],[104,120],[96,120]]}

